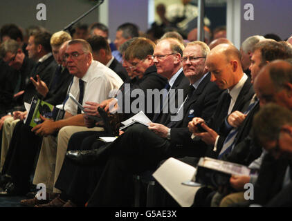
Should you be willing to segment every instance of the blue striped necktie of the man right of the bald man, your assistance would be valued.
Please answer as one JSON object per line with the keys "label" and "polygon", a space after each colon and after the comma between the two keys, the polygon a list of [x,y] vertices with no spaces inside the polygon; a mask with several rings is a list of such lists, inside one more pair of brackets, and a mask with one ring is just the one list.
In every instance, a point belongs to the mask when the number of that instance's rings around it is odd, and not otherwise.
{"label": "blue striped necktie of the man right of the bald man", "polygon": [[[248,115],[248,113],[253,109],[253,107],[255,106],[255,104],[257,104],[257,99],[252,99],[252,102],[250,102],[250,105],[248,106],[248,109],[246,110],[246,112],[244,114]],[[232,149],[235,146],[235,137],[237,135],[239,131],[239,128],[233,128],[229,133],[228,136],[226,137],[222,149],[219,153],[218,159],[220,160],[223,155],[226,155],[227,153],[230,153],[232,151]]]}

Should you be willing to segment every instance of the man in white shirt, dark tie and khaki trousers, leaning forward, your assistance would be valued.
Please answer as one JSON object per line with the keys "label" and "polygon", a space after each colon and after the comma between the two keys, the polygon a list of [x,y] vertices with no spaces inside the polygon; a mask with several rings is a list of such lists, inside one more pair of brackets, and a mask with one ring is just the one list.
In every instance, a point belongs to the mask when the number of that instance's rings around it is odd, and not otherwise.
{"label": "man in white shirt, dark tie and khaki trousers, leaning forward", "polygon": [[[82,39],[69,41],[65,59],[69,73],[74,75],[69,93],[78,99],[83,106],[85,102],[100,103],[104,99],[108,99],[112,90],[118,89],[123,83],[113,70],[98,61],[93,61],[91,46],[87,41]],[[54,178],[60,172],[71,135],[78,131],[103,130],[103,128],[98,127],[86,128],[84,114],[78,110],[72,99],[66,101],[64,111],[66,111],[64,119],[53,122],[43,118],[44,122],[32,130],[35,134],[44,136],[33,184],[46,184],[46,200],[53,197],[51,193],[53,193]],[[59,131],[57,137],[53,136],[57,131]],[[56,190],[56,192],[58,191]],[[33,206],[44,202],[44,196],[42,199],[21,200],[21,203]]]}

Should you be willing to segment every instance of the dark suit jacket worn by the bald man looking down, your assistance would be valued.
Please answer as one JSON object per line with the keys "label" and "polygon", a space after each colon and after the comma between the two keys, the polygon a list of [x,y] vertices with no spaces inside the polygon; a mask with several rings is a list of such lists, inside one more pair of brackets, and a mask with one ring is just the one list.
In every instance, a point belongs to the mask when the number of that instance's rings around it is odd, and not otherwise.
{"label": "dark suit jacket worn by the bald man looking down", "polygon": [[[214,158],[218,157],[223,146],[223,142],[230,131],[230,129],[226,128],[224,122],[227,117],[226,113],[223,113],[222,111],[222,106],[224,104],[224,101],[226,100],[226,97],[228,96],[227,93],[228,92],[226,91],[221,95],[215,113],[211,117],[210,121],[207,122],[208,126],[215,130],[219,135],[217,151],[216,152],[213,151],[214,148],[213,145],[208,146],[208,151],[206,152],[206,155],[208,157]],[[250,99],[253,98],[253,95],[254,95],[253,85],[250,83],[250,79],[248,78],[246,79],[244,86],[241,88],[241,91],[237,97],[237,100],[232,108],[231,113],[234,111],[241,111],[242,113],[245,112],[246,109],[248,108],[248,105],[250,104]]]}

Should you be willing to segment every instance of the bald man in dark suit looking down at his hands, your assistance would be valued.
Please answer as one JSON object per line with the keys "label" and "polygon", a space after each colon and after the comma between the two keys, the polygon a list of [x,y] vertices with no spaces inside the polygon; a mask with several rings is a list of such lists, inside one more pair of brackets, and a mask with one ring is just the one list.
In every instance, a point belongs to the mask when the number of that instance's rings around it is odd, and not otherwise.
{"label": "bald man in dark suit looking down at his hands", "polygon": [[[206,155],[217,158],[221,151],[217,146],[222,146],[232,129],[226,122],[226,117],[233,111],[246,111],[254,91],[250,79],[242,70],[239,50],[235,46],[220,44],[213,48],[207,56],[206,66],[212,74],[211,81],[215,81],[219,88],[227,90],[221,95],[210,121],[205,122],[200,117],[194,117],[189,123],[189,129],[195,140],[199,139],[208,146]],[[206,132],[200,133],[197,124],[201,124]]]}

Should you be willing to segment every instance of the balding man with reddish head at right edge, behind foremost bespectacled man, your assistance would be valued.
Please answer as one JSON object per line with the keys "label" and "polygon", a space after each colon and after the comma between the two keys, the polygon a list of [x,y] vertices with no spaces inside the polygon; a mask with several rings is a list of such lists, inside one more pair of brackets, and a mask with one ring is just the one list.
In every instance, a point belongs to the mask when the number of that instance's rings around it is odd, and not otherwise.
{"label": "balding man with reddish head at right edge, behind foremost bespectacled man", "polygon": [[[291,85],[289,80],[289,76],[292,75],[291,71],[291,64],[287,63],[286,61],[279,60],[271,62],[271,64],[266,65],[261,70],[255,79],[255,92],[257,93],[257,97],[259,98],[261,106],[268,102],[273,102],[291,109],[291,99],[289,96],[281,95],[282,93],[289,93],[286,90],[281,89],[283,88],[283,85],[286,85],[287,87]],[[274,117],[277,116],[278,115],[275,115]],[[257,122],[259,122],[259,118],[257,119]],[[259,127],[262,126],[262,124],[263,122],[261,122],[261,124],[255,124],[254,121],[253,127],[259,130]],[[259,131],[262,131],[262,129]],[[255,131],[255,134],[257,134],[257,131]],[[272,135],[269,136],[269,140],[275,142],[275,139],[273,139]],[[263,146],[266,151],[268,151],[268,146]],[[273,157],[271,157],[269,154],[263,156],[263,161],[259,170],[259,176],[257,177],[257,180],[253,182],[255,183],[255,200],[251,201],[250,203],[264,205],[268,202],[268,200],[271,200],[273,195],[282,189],[282,184],[285,184],[284,176],[288,164],[289,162],[283,159],[274,160]],[[275,179],[277,179],[277,182],[273,183],[272,180]],[[243,198],[244,193],[242,192],[244,190],[243,186],[246,184],[246,182],[250,182],[250,177],[245,177],[245,179],[244,177],[241,179],[237,177],[237,179],[234,179],[232,183],[234,183],[235,189],[240,192],[234,193],[233,195],[227,195],[221,201],[221,206],[230,206],[232,203],[246,202],[246,200]],[[271,188],[272,183],[274,187],[273,190]],[[267,186],[266,184],[269,185]]]}

